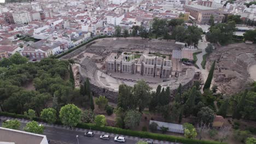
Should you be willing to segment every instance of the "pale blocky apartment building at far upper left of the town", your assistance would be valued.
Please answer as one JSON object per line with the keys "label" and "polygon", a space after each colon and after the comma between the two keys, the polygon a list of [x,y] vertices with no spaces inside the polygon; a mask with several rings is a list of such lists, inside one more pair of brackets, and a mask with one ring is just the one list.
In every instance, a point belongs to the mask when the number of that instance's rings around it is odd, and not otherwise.
{"label": "pale blocky apartment building at far upper left of the town", "polygon": [[14,23],[28,23],[32,21],[30,13],[28,11],[15,11],[13,13]]}

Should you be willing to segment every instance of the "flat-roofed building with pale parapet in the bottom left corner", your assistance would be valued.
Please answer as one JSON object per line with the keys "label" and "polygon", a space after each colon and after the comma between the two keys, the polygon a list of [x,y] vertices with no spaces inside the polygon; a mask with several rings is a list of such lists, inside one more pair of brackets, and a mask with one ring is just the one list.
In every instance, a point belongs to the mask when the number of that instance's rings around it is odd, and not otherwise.
{"label": "flat-roofed building with pale parapet in the bottom left corner", "polygon": [[1,142],[12,142],[15,144],[48,144],[45,135],[0,127],[0,143]]}

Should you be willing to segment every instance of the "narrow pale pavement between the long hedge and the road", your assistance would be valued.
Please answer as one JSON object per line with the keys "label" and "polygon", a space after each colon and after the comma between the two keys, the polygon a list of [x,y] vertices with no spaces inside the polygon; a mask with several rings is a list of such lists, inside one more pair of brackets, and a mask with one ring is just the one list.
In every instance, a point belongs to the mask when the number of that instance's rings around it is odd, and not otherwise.
{"label": "narrow pale pavement between the long hedge and the road", "polygon": [[[7,119],[10,119],[10,120],[17,119],[21,123],[31,122],[30,120],[27,120],[27,119],[11,118],[11,117],[5,117],[5,116],[0,116],[0,119],[1,119],[1,121],[5,121]],[[38,123],[43,124],[44,127],[72,130],[70,127],[67,127],[65,125],[49,124],[49,123],[44,123],[44,122],[38,122]],[[109,135],[110,137],[115,137],[115,136],[118,135],[118,134],[106,133],[106,132],[103,132],[103,131],[96,131],[96,130],[89,130],[89,129],[82,129],[82,128],[74,128],[73,131],[79,131],[79,132],[82,132],[82,133],[85,133],[86,131],[93,131],[96,135]],[[118,135],[118,136],[125,136],[125,135]],[[156,143],[156,144],[182,144],[182,143],[178,143],[178,142],[168,142],[168,141],[159,141],[159,140],[153,140],[153,139],[144,139],[144,138],[135,137],[135,136],[125,136],[125,139],[127,139],[127,140],[136,140],[136,141],[150,140],[150,141],[153,141],[153,143]]]}

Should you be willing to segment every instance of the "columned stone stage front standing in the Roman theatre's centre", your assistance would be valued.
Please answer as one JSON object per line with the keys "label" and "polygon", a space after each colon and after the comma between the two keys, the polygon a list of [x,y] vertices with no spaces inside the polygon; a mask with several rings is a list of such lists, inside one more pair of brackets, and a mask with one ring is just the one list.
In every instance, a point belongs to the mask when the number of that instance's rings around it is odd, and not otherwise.
{"label": "columned stone stage front standing in the Roman theatre's centre", "polygon": [[140,55],[123,52],[118,58],[110,56],[106,60],[108,71],[141,74],[153,77],[170,77],[172,61],[155,55]]}

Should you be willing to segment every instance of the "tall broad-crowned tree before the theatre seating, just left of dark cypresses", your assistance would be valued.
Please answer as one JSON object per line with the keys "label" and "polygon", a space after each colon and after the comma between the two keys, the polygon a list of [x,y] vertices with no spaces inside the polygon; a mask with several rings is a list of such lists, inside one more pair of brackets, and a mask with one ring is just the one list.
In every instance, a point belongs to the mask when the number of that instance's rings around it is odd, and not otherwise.
{"label": "tall broad-crowned tree before the theatre seating, just left of dark cypresses", "polygon": [[133,94],[137,101],[139,111],[142,112],[148,106],[151,99],[150,91],[152,88],[144,80],[139,80],[133,86]]}

